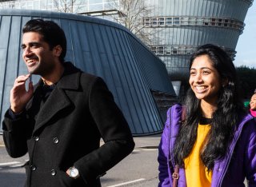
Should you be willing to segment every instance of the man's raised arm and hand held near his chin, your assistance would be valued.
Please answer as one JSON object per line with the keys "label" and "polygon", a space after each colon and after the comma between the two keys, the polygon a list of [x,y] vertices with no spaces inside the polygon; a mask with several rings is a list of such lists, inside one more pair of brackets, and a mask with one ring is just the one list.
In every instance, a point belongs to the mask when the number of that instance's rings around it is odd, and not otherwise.
{"label": "man's raised arm and hand held near his chin", "polygon": [[29,83],[29,90],[26,90],[28,78],[30,74],[15,79],[10,90],[10,109],[6,111],[2,122],[3,140],[10,157],[22,157],[27,152],[26,134],[29,127],[24,109],[34,92],[32,82]]}

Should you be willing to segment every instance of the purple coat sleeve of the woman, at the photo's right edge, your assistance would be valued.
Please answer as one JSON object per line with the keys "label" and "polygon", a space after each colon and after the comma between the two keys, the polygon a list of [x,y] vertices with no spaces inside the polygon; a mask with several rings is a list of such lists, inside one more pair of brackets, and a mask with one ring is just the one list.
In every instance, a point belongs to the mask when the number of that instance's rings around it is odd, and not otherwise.
{"label": "purple coat sleeve of the woman, at the photo's right edge", "polygon": [[246,179],[248,181],[248,187],[256,186],[256,123],[252,121],[250,123],[250,129],[248,130],[248,146],[246,148]]}

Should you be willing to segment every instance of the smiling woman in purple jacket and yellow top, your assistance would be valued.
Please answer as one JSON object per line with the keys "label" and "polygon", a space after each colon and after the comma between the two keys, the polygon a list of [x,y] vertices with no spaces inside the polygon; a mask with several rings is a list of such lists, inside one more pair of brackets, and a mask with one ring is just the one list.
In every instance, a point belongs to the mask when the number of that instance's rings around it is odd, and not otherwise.
{"label": "smiling woman in purple jacket and yellow top", "polygon": [[185,103],[167,112],[158,186],[240,187],[245,178],[256,186],[256,124],[243,109],[236,77],[218,46],[201,46],[190,58]]}

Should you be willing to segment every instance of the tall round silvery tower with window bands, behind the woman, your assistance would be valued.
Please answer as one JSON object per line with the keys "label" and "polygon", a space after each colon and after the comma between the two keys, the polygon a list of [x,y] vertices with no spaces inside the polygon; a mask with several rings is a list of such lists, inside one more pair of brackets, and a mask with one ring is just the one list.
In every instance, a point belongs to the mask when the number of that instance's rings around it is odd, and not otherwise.
{"label": "tall round silvery tower with window bands, behind the woman", "polygon": [[188,78],[190,54],[203,44],[222,46],[232,58],[253,0],[146,0],[143,18],[154,33],[150,49],[166,63],[172,80]]}

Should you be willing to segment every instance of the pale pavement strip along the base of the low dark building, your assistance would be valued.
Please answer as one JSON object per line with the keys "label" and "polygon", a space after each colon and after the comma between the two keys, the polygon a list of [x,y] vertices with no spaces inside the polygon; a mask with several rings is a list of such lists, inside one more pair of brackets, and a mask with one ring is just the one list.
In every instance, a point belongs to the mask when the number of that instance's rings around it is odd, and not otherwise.
{"label": "pale pavement strip along the base of the low dark building", "polygon": [[[161,139],[161,133],[143,137],[134,137],[135,149],[156,149]],[[0,134],[0,146],[4,146],[2,134]]]}

